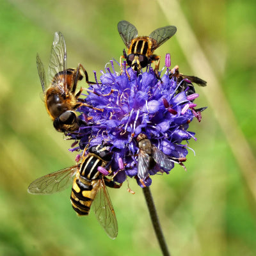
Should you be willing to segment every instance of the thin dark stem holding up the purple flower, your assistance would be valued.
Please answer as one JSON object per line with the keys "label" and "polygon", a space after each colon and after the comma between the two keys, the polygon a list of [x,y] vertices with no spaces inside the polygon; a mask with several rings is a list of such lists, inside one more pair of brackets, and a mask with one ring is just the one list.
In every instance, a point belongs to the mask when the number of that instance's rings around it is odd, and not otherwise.
{"label": "thin dark stem holding up the purple flower", "polygon": [[143,193],[145,196],[145,200],[147,202],[148,211],[150,213],[150,218],[151,218],[160,248],[161,248],[164,256],[170,256],[170,253],[168,252],[166,241],[164,239],[163,231],[162,231],[162,228],[161,228],[158,216],[157,216],[156,207],[154,204],[152,194],[150,192],[150,188],[145,187],[142,190],[143,190]]}

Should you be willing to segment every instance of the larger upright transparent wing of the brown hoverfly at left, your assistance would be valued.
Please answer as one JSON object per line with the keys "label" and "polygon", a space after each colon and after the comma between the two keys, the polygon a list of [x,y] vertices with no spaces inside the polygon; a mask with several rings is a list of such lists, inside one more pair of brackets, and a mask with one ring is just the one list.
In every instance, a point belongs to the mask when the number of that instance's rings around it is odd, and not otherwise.
{"label": "larger upright transparent wing of the brown hoverfly at left", "polygon": [[48,68],[49,83],[52,83],[53,77],[59,72],[63,72],[63,76],[58,76],[58,82],[65,84],[67,81],[67,50],[63,35],[55,32],[52,43],[51,58]]}

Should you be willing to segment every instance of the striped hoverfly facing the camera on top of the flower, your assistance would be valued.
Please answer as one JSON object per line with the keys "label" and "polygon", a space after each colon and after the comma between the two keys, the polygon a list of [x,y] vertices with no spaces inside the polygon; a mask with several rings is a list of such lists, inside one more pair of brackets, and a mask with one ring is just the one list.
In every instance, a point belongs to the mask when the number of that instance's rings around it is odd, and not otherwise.
{"label": "striped hoverfly facing the camera on top of the flower", "polygon": [[[118,32],[128,49],[126,54],[120,57],[120,66],[122,70],[122,58],[125,58],[127,65],[134,71],[140,72],[141,68],[146,67],[149,63],[155,63],[155,72],[158,76],[160,56],[153,52],[171,38],[177,31],[175,26],[166,26],[157,28],[149,36],[138,36],[138,31],[130,22],[122,20],[118,22]],[[157,61],[157,63],[155,62]]]}

